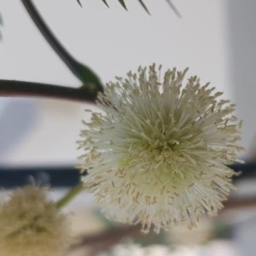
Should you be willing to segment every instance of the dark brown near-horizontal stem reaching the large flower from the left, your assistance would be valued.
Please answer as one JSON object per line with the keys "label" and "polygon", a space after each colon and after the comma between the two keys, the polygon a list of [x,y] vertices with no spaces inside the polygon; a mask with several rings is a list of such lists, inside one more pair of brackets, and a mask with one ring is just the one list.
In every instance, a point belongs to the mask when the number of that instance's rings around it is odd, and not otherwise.
{"label": "dark brown near-horizontal stem reaching the large flower from the left", "polygon": [[72,88],[55,84],[0,79],[0,96],[38,96],[95,103],[97,92],[84,86]]}

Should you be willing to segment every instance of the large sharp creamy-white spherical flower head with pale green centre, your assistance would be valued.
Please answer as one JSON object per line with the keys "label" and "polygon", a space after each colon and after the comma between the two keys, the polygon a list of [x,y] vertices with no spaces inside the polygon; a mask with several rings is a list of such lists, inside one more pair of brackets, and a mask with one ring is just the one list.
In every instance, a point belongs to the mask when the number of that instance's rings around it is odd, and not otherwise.
{"label": "large sharp creamy-white spherical flower head with pale green centre", "polygon": [[186,72],[167,70],[161,81],[160,68],[139,67],[107,84],[103,113],[84,122],[83,181],[108,217],[159,231],[223,207],[241,122],[209,84],[183,83]]}

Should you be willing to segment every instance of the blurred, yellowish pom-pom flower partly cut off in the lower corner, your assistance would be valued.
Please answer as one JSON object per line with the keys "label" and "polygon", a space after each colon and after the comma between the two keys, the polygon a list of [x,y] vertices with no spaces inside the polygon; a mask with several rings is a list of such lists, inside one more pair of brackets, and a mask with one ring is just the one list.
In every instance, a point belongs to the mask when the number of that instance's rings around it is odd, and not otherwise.
{"label": "blurred, yellowish pom-pom flower partly cut off in the lower corner", "polygon": [[63,256],[67,227],[45,188],[17,189],[0,206],[0,256]]}

